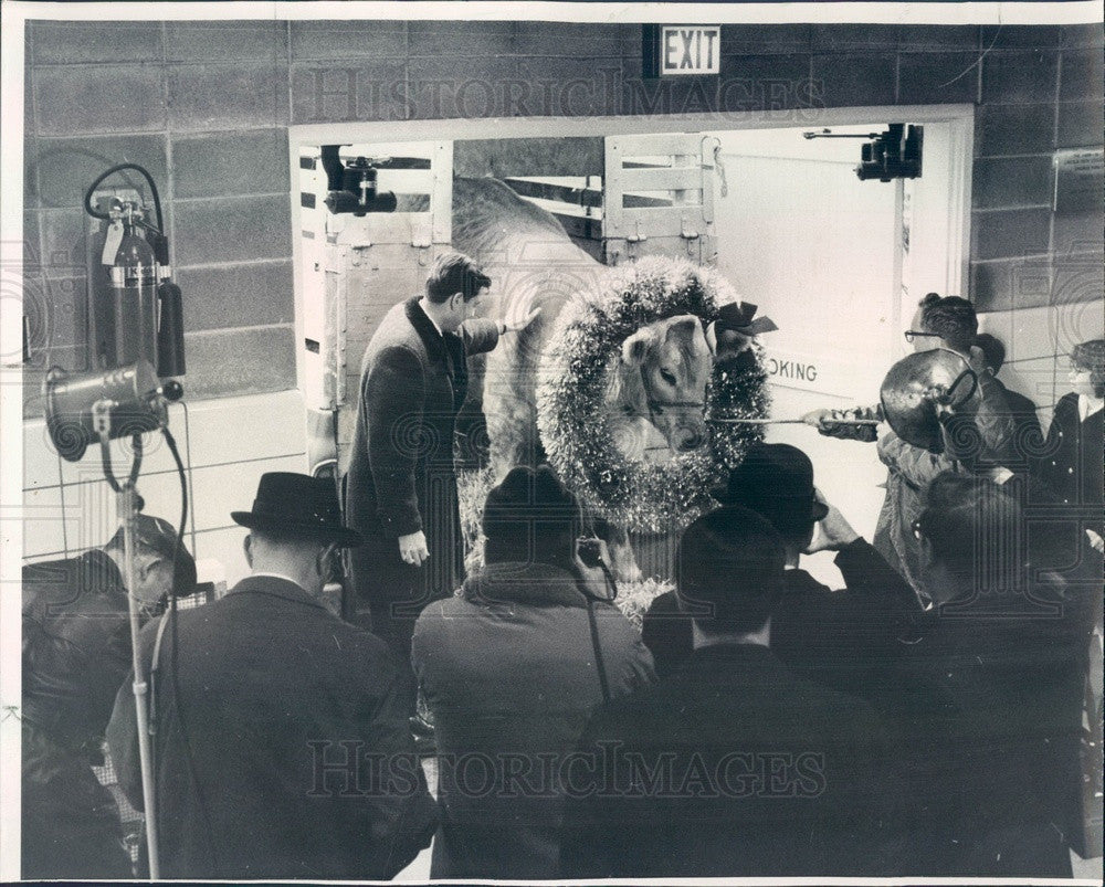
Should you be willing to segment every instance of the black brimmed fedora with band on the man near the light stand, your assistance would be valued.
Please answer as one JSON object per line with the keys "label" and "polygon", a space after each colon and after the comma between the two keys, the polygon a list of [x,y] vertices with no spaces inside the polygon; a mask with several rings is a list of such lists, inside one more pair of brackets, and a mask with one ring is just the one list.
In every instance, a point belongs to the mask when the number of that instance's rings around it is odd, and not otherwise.
{"label": "black brimmed fedora with band on the man near the light stand", "polygon": [[306,536],[337,542],[341,548],[359,546],[357,530],[341,522],[341,507],[334,482],[291,472],[261,475],[252,511],[231,511],[235,524],[284,536]]}

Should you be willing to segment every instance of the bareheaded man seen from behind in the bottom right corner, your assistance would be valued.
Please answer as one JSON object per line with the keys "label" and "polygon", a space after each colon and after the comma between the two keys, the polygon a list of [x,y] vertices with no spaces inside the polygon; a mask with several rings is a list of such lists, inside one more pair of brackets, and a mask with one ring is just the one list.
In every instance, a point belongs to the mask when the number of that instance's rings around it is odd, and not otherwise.
{"label": "bareheaded man seen from behind in the bottom right corner", "polygon": [[902,874],[1070,878],[1099,573],[1094,588],[1027,567],[1019,501],[982,478],[939,475],[914,532],[934,608],[878,706],[902,728]]}

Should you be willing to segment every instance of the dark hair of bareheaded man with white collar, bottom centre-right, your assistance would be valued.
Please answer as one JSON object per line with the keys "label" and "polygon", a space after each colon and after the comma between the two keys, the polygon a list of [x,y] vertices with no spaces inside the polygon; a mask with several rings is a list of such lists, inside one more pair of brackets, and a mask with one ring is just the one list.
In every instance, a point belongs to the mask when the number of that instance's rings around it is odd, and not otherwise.
{"label": "dark hair of bareheaded man with white collar, bottom centre-right", "polygon": [[725,506],[686,528],[676,551],[680,609],[707,634],[764,627],[782,589],[782,539],[762,517]]}

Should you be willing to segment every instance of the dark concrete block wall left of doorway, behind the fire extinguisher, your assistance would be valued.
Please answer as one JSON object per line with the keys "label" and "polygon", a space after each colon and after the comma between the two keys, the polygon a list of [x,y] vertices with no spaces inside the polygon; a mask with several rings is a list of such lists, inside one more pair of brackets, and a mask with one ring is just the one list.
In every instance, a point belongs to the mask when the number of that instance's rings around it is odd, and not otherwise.
{"label": "dark concrete block wall left of doorway, behind the fire extinguisher", "polygon": [[27,415],[41,413],[48,361],[72,368],[83,356],[81,201],[124,160],[161,192],[188,397],[294,388],[286,43],[287,25],[272,21],[29,27],[24,303],[42,335]]}

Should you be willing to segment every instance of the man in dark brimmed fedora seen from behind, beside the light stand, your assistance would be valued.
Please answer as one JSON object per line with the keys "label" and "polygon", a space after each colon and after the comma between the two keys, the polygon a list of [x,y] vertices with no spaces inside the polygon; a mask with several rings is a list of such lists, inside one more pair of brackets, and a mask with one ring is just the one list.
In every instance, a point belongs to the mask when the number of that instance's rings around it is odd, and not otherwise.
{"label": "man in dark brimmed fedora seen from behind, beside the light stand", "polygon": [[[333,484],[301,474],[263,475],[252,510],[231,517],[250,529],[252,573],[140,637],[161,875],[391,878],[435,817],[385,645],[323,603],[329,558],[360,535]],[[130,680],[108,741],[140,806]]]}

